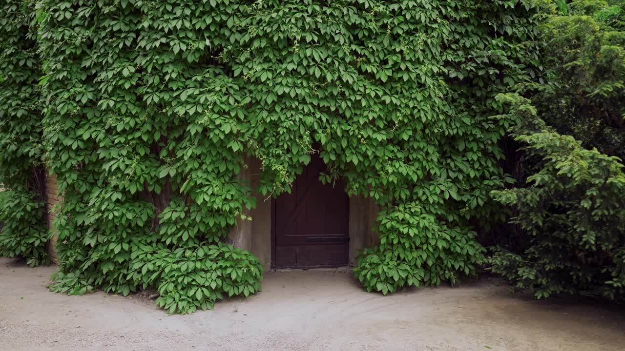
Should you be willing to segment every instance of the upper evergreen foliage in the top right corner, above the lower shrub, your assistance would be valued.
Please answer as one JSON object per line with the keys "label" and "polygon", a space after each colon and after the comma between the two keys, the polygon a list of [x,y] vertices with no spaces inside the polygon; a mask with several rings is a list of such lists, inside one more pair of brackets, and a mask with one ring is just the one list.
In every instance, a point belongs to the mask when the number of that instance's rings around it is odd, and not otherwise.
{"label": "upper evergreen foliage in the top right corner, above the lower shrub", "polygon": [[560,134],[625,159],[625,3],[567,6],[539,26],[544,80],[529,85],[532,103]]}

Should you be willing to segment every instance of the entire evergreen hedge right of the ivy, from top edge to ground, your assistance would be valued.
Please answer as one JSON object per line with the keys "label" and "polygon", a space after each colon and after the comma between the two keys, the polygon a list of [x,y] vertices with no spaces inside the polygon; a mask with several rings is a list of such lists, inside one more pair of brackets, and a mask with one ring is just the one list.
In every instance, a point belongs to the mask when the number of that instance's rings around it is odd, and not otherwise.
{"label": "entire evergreen hedge right of the ivy, from top edge to ground", "polygon": [[528,247],[489,260],[537,298],[625,302],[625,1],[558,1],[540,26],[544,84],[506,118],[530,156],[526,184],[494,197],[515,209]]}

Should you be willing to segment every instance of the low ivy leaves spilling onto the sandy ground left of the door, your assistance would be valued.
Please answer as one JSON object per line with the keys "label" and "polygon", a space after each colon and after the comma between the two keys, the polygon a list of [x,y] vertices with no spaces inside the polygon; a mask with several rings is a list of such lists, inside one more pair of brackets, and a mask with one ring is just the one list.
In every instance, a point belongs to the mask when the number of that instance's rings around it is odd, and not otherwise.
{"label": "low ivy leaves spilling onto the sandy ground left of the door", "polygon": [[[262,265],[241,249],[218,243],[193,245],[171,250],[164,245],[135,245],[128,266],[107,271],[123,272],[121,285],[108,290],[128,295],[139,287],[155,287],[156,304],[169,314],[188,314],[212,309],[225,295],[247,297],[261,289]],[[56,275],[53,292],[81,295],[94,290],[99,282],[90,282],[93,275],[70,272]]]}

